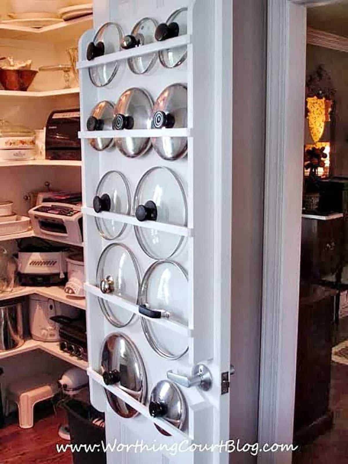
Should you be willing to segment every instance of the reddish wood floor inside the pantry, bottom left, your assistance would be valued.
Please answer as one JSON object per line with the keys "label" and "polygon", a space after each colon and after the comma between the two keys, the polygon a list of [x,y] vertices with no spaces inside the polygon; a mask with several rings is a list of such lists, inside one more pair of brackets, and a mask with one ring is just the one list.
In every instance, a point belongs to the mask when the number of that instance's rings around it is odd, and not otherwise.
{"label": "reddish wood floor inside the pantry, bottom left", "polygon": [[7,419],[5,428],[0,429],[1,464],[72,464],[71,452],[58,453],[57,443],[68,443],[58,436],[58,427],[65,418],[50,406],[35,409],[35,423],[31,429],[21,429],[16,418]]}

